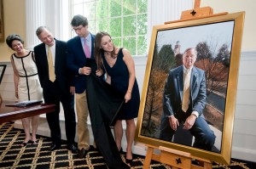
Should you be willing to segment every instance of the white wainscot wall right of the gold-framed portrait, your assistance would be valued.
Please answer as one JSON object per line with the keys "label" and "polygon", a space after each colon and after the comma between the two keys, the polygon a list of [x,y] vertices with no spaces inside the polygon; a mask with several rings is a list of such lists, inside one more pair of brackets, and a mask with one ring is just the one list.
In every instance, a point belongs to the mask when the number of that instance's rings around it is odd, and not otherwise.
{"label": "white wainscot wall right of the gold-framed portrait", "polygon": [[239,68],[231,156],[256,161],[256,51],[243,52]]}

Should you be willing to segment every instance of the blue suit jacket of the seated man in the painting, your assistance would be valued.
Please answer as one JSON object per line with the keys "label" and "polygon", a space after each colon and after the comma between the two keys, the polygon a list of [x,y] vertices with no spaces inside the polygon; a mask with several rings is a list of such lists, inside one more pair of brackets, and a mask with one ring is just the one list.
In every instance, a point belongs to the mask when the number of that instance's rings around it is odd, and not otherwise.
{"label": "blue suit jacket of the seated man in the painting", "polygon": [[[193,66],[190,80],[189,109],[202,114],[207,99],[205,71]],[[183,65],[170,70],[164,90],[163,110],[165,116],[176,115],[182,110],[183,99]],[[191,111],[191,112],[192,112]]]}

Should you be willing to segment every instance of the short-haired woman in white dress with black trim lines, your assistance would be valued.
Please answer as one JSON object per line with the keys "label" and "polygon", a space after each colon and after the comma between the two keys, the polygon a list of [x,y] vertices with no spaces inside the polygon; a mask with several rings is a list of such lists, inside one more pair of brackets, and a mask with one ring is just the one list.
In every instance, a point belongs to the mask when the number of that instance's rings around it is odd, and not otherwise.
{"label": "short-haired woman in white dress with black trim lines", "polygon": [[[43,90],[38,79],[38,70],[33,58],[33,52],[26,50],[24,41],[19,35],[12,34],[6,38],[9,48],[15,51],[10,57],[15,80],[15,97],[18,101],[42,100]],[[26,138],[20,146],[26,146],[30,141],[37,144],[36,133],[38,130],[39,115],[21,119]],[[30,123],[32,121],[32,135]]]}

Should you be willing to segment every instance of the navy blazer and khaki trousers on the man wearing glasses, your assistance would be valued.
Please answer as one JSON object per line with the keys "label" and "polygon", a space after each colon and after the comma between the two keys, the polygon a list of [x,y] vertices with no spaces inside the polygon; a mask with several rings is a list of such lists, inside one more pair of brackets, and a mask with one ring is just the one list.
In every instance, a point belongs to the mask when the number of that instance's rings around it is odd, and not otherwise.
{"label": "navy blazer and khaki trousers on the man wearing glasses", "polygon": [[90,134],[87,125],[88,104],[86,99],[86,81],[87,76],[80,75],[79,69],[84,66],[91,68],[91,73],[96,72],[96,61],[94,59],[94,38],[91,36],[91,54],[87,59],[84,54],[81,37],[73,37],[67,41],[67,67],[73,74],[75,86],[76,112],[78,118],[78,147],[79,149],[88,150],[90,148]]}

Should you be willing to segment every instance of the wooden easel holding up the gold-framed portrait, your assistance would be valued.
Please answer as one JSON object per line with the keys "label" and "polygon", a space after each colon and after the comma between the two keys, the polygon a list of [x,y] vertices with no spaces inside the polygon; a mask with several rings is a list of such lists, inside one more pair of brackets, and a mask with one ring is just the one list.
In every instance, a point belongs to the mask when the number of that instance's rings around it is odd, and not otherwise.
{"label": "wooden easel holding up the gold-framed portrait", "polygon": [[[181,14],[181,20],[174,20],[165,22],[165,24],[172,24],[177,22],[183,22],[188,20],[199,20],[210,18],[214,16],[228,14],[227,12],[213,14],[213,9],[211,7],[200,8],[201,0],[195,0],[194,8],[190,10],[185,10]],[[172,169],[212,169],[212,161],[202,159],[190,155],[190,153],[179,151],[176,149],[169,149],[166,147],[155,147],[152,145],[147,145],[148,150],[146,158],[144,161],[143,169],[148,169],[150,166],[150,161],[159,161],[167,165],[172,166]],[[160,154],[154,153],[154,149],[159,149]],[[192,164],[192,160],[199,161],[199,165]]]}

